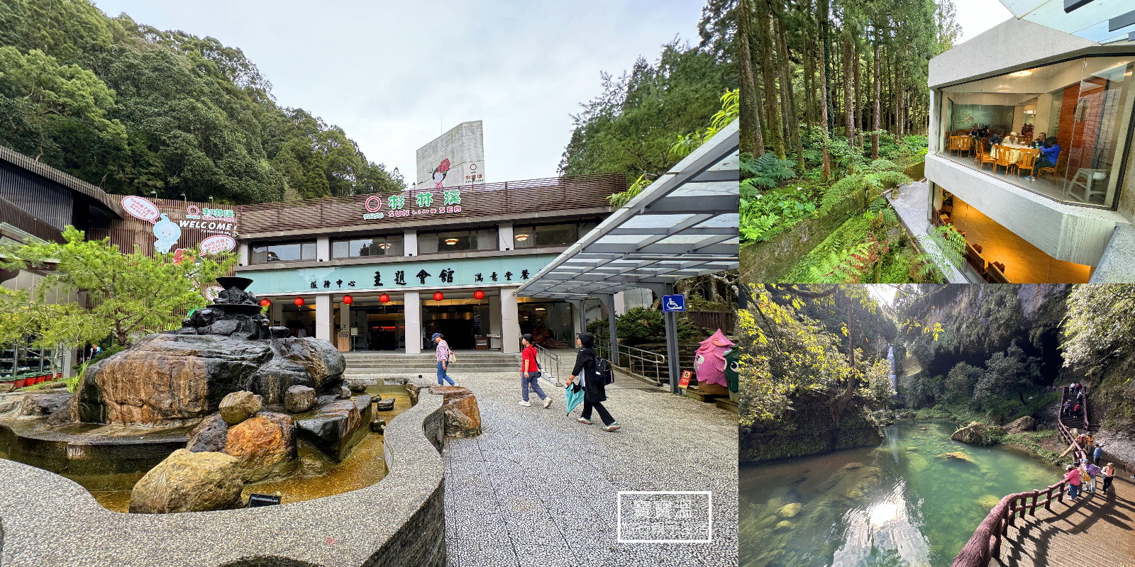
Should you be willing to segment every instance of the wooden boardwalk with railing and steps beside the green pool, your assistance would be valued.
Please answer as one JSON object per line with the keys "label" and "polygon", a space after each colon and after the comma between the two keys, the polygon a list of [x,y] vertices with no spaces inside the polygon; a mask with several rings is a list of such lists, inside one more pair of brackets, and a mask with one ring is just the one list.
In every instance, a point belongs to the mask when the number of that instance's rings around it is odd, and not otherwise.
{"label": "wooden boardwalk with railing and steps beside the green pool", "polygon": [[[1067,399],[1076,404],[1070,388],[1063,389],[1061,407]],[[1057,429],[1065,442],[1075,445],[1079,463],[1084,449],[1071,430],[1091,430],[1086,405],[1074,415],[1061,412]],[[1099,491],[1102,485],[1098,480],[1096,493],[1082,494],[1077,502],[1067,497],[1063,480],[1002,498],[951,567],[1135,567],[1135,483],[1117,469],[1109,494]]]}

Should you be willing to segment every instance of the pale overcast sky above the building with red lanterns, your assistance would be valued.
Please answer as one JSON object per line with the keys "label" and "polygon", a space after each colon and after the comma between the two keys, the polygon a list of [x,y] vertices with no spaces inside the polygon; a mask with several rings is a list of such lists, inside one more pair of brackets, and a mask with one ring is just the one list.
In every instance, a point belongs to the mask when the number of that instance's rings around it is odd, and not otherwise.
{"label": "pale overcast sky above the building with red lanterns", "polygon": [[697,43],[701,0],[95,0],[110,16],[244,50],[277,103],[340,126],[414,179],[418,147],[485,121],[485,180],[554,177],[599,71]]}

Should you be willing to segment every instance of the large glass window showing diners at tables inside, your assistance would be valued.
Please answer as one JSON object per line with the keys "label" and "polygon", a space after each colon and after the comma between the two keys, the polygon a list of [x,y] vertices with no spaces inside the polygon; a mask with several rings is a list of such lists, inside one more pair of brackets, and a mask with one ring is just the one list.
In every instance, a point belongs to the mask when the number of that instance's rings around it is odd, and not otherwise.
{"label": "large glass window showing diners at tables inside", "polygon": [[939,154],[1056,201],[1111,209],[1135,108],[1133,60],[1087,57],[944,87]]}

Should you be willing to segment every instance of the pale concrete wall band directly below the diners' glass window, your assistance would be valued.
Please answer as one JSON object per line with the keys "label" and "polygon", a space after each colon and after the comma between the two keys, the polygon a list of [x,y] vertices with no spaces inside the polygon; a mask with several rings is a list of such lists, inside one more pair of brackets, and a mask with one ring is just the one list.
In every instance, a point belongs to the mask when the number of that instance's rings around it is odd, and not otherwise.
{"label": "pale concrete wall band directly below the diners' glass window", "polygon": [[938,155],[926,156],[926,178],[1066,262],[1095,265],[1115,227],[1127,223],[1115,211],[1057,203]]}

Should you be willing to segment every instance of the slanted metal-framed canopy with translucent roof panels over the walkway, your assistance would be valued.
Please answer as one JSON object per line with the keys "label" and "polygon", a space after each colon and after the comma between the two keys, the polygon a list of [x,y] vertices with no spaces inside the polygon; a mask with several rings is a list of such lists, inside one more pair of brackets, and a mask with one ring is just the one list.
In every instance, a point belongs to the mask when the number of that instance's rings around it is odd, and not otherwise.
{"label": "slanted metal-framed canopy with translucent roof panels over the walkway", "polygon": [[[614,295],[648,288],[662,296],[674,282],[738,268],[740,155],[738,120],[642,189],[516,291],[579,307],[589,297],[614,313]],[[583,323],[580,310],[580,324]],[[617,352],[614,316],[611,352]],[[670,390],[678,391],[678,338],[666,314]]]}

